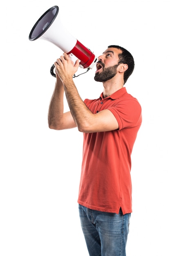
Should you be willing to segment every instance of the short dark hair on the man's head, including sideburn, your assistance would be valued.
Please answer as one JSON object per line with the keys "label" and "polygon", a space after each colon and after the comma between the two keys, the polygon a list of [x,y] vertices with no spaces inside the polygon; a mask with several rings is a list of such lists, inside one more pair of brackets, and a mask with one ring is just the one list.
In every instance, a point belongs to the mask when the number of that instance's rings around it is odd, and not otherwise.
{"label": "short dark hair on the man's head, including sideburn", "polygon": [[126,81],[128,80],[128,78],[130,77],[130,75],[132,74],[132,72],[134,70],[134,58],[133,58],[133,56],[130,52],[128,52],[126,49],[124,49],[123,47],[121,47],[119,45],[110,45],[110,46],[108,46],[108,48],[110,48],[110,47],[122,50],[122,53],[120,53],[118,55],[119,56],[118,65],[120,63],[128,65],[128,69],[125,71],[124,77],[123,77],[124,78],[124,83],[126,83]]}

